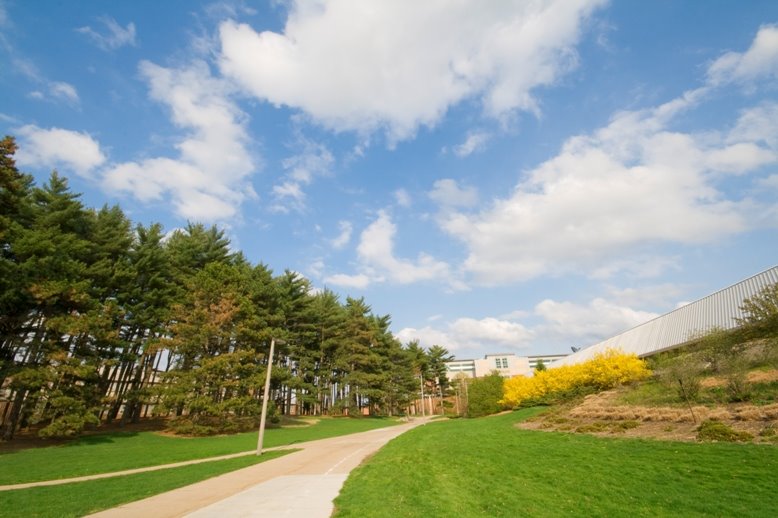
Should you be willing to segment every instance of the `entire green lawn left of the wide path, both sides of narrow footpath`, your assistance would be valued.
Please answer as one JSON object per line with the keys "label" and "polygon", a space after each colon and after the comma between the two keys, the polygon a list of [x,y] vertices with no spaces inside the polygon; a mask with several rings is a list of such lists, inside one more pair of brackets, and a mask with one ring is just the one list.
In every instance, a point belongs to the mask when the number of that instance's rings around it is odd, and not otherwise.
{"label": "entire green lawn left of the wide path, both sides of narrow footpath", "polygon": [[[265,447],[292,445],[398,424],[389,418],[321,418],[310,426],[267,430]],[[183,438],[153,432],[84,437],[62,446],[0,455],[0,484],[53,480],[253,450],[257,433]],[[84,516],[290,453],[266,452],[101,480],[0,491],[0,516]]]}

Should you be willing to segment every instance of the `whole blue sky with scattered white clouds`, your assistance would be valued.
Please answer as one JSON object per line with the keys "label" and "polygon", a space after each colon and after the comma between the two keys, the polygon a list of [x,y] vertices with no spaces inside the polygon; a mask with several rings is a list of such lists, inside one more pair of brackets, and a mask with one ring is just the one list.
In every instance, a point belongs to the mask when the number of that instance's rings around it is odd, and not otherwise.
{"label": "whole blue sky with scattered white clouds", "polygon": [[460,359],[778,264],[774,0],[0,0],[0,132]]}

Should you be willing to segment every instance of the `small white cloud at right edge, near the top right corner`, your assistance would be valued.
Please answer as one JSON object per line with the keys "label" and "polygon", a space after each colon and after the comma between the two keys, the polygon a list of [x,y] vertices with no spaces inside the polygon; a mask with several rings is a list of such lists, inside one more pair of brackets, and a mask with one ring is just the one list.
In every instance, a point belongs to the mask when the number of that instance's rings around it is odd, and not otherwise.
{"label": "small white cloud at right edge, near the top right corner", "polygon": [[708,81],[714,85],[752,83],[778,79],[778,26],[759,29],[751,47],[743,53],[727,52],[708,68]]}

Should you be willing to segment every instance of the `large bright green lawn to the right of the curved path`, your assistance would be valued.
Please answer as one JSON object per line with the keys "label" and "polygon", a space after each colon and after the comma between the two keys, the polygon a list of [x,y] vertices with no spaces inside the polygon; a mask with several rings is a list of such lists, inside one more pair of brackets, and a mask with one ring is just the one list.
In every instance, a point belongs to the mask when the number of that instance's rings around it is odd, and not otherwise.
{"label": "large bright green lawn to the right of the curved path", "polygon": [[778,448],[520,430],[536,409],[431,423],[353,471],[338,518],[764,516]]}

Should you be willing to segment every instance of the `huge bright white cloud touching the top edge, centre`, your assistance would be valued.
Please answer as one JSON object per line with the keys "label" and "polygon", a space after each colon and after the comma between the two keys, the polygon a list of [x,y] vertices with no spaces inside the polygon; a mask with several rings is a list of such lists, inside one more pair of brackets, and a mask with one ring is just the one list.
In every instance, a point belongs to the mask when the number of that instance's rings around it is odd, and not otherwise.
{"label": "huge bright white cloud touching the top edge, centre", "polygon": [[492,117],[536,112],[532,91],[576,65],[602,4],[295,1],[283,33],[223,23],[220,67],[259,99],[336,131],[385,130],[391,144],[465,100]]}

